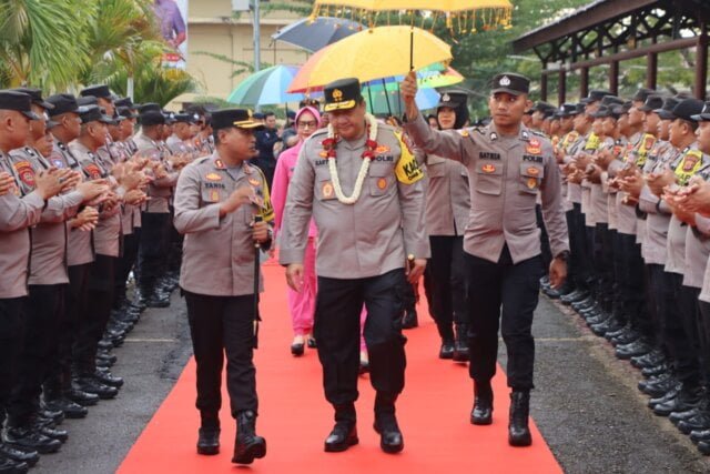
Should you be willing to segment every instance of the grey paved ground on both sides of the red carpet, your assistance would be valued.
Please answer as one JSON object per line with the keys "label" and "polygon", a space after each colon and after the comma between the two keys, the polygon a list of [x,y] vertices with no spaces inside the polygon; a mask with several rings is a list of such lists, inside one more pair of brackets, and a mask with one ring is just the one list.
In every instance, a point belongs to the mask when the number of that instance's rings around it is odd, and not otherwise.
{"label": "grey paved ground on both sides of the red carpet", "polygon": [[[190,355],[184,301],[143,314],[115,351],[119,397],[67,421],[70,440],[34,473],[112,473],[169,393]],[[581,320],[541,299],[534,327],[536,385],[531,412],[568,473],[703,473],[710,460],[666,418],[646,407],[640,374],[616,360],[610,345]],[[503,344],[501,344],[503,345]],[[505,366],[505,350],[501,347]],[[531,466],[532,467],[532,466]]]}

